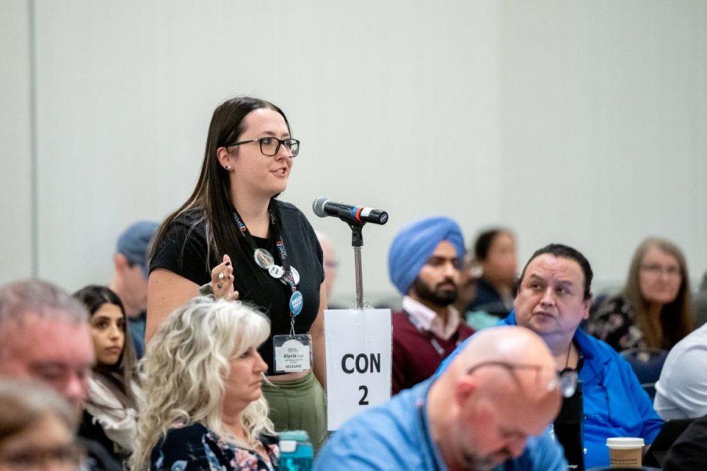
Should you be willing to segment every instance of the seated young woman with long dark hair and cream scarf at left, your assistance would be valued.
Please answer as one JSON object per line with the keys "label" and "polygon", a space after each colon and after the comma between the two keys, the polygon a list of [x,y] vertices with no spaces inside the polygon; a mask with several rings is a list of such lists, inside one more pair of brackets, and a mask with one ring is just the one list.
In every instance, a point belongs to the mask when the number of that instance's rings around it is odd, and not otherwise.
{"label": "seated young woman with long dark hair and cream scarf at left", "polygon": [[90,313],[96,363],[88,378],[81,435],[93,438],[117,460],[132,453],[137,426],[140,378],[135,349],[127,332],[120,299],[105,286],[86,286],[74,293]]}

